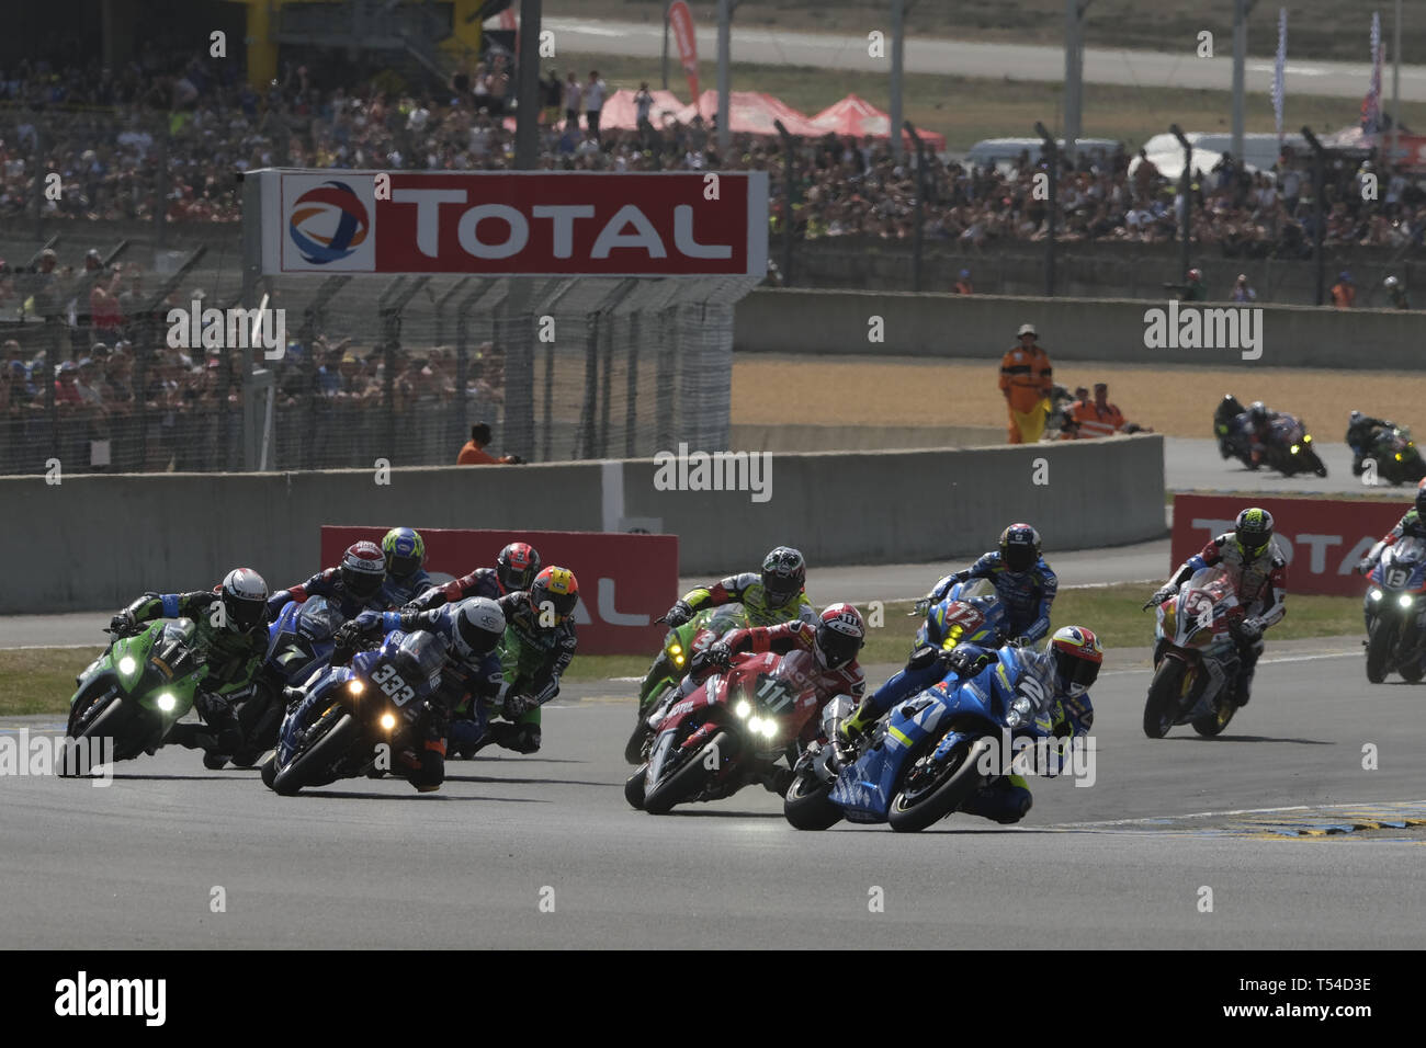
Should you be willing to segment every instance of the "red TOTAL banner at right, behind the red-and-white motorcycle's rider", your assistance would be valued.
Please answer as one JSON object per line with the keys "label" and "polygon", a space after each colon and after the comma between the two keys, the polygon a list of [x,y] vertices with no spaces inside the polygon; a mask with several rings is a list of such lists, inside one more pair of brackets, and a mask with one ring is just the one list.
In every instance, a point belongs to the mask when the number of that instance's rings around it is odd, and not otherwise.
{"label": "red TOTAL banner at right, behind the red-and-white motorcycle's rider", "polygon": [[[1353,567],[1386,535],[1409,502],[1330,499],[1253,499],[1208,495],[1174,498],[1174,570],[1204,549],[1209,539],[1231,532],[1248,505],[1272,513],[1278,546],[1288,558],[1288,597],[1293,593],[1362,596],[1366,580]],[[1292,605],[1288,605],[1292,613]]]}

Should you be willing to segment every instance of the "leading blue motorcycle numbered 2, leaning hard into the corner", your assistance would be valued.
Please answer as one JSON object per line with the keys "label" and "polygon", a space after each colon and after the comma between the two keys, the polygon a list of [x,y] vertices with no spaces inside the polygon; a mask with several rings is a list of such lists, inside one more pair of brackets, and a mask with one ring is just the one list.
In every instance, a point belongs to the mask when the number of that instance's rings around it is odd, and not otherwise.
{"label": "leading blue motorcycle numbered 2, leaning hard into the corner", "polygon": [[1028,656],[1018,647],[995,656],[968,680],[948,673],[893,706],[851,746],[837,731],[837,721],[853,713],[850,700],[829,703],[821,736],[831,741],[810,746],[793,769],[783,801],[787,821],[826,830],[846,818],[914,833],[1008,774],[1015,740],[1051,740],[1055,749],[1057,702],[1037,676],[1021,673]]}

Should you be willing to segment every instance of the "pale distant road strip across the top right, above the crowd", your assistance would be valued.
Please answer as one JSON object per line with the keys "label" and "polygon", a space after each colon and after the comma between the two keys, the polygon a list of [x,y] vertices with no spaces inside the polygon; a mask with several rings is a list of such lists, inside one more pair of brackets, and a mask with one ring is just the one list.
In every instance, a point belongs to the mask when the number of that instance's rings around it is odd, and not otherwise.
{"label": "pale distant road strip across the top right, above the crowd", "polygon": [[[880,24],[878,24],[880,23]],[[560,53],[620,54],[659,58],[663,30],[659,21],[599,21],[592,19],[545,19],[542,27],[555,33]],[[890,33],[880,14],[870,14],[867,31]],[[1291,33],[1291,30],[1289,30]],[[717,24],[696,26],[699,54],[717,57]],[[1229,34],[1231,37],[1231,34]],[[1226,40],[1228,37],[1225,37]],[[670,44],[672,47],[672,44]],[[1365,44],[1363,44],[1365,47]],[[1085,47],[1084,80],[1088,84],[1125,84],[1129,87],[1175,87],[1232,90],[1232,47],[1221,44],[1218,57],[1199,58],[1196,41],[1185,41],[1181,51],[1139,51]],[[673,50],[677,68],[677,50]],[[733,21],[733,61],[759,66],[811,66],[814,68],[886,73],[887,58],[867,54],[867,37],[824,33],[789,33],[771,29],[739,29]],[[931,73],[994,80],[1037,80],[1060,83],[1064,78],[1064,48],[1027,44],[970,43],[908,36],[904,67],[907,73]],[[1299,94],[1336,98],[1360,98],[1372,74],[1368,63],[1313,61],[1291,58],[1283,70],[1288,97]],[[1268,94],[1272,90],[1272,58],[1248,58],[1245,90]],[[1387,70],[1387,80],[1390,71]],[[1402,100],[1426,100],[1426,67],[1402,66]],[[1387,83],[1387,91],[1390,84]]]}

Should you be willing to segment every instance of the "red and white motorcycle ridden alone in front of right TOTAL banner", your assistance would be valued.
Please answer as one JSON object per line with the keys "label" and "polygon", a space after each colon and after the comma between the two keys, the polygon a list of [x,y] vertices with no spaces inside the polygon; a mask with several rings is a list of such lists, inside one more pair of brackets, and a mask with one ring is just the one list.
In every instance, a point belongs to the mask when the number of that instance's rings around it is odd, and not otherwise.
{"label": "red and white motorcycle ridden alone in front of right TOTAL banner", "polygon": [[1154,679],[1144,703],[1144,734],[1162,739],[1175,724],[1216,736],[1232,720],[1242,660],[1233,632],[1238,592],[1222,565],[1202,567],[1158,606]]}

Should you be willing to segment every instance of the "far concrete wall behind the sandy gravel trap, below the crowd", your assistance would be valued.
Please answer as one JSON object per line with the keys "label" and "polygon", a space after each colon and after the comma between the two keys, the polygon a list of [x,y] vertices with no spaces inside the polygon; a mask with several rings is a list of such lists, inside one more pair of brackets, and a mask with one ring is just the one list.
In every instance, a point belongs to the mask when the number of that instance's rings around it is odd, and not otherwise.
{"label": "far concrete wall behind the sandy gravel trap, below the crowd", "polygon": [[[737,304],[733,349],[1000,359],[1020,325],[1031,322],[1052,361],[1426,369],[1420,348],[1426,318],[1419,312],[1265,305],[1262,356],[1243,361],[1235,349],[1145,348],[1145,311],[1166,307],[1105,298],[769,288]],[[881,342],[867,338],[871,317],[883,321]]]}

